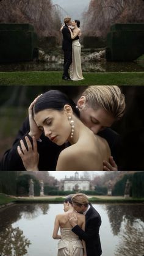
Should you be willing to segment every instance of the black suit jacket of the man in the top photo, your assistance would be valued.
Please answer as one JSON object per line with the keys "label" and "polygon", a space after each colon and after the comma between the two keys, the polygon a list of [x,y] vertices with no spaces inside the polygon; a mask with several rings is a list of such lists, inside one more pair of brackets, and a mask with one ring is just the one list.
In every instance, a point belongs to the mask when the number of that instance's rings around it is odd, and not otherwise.
{"label": "black suit jacket of the man in the top photo", "polygon": [[72,51],[71,33],[70,33],[67,25],[65,25],[63,27],[62,34],[63,34],[63,42],[62,42],[63,51],[65,51],[65,50]]}

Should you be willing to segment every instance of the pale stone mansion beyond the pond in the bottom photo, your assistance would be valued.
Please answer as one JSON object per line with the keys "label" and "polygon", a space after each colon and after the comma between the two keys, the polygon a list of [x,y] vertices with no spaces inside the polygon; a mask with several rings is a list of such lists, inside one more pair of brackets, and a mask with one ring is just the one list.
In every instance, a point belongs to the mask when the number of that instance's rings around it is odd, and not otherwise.
{"label": "pale stone mansion beyond the pond in the bottom photo", "polygon": [[63,180],[63,190],[64,191],[81,191],[90,189],[90,180],[88,178],[79,177],[79,173],[75,172],[74,176],[67,178],[65,175],[65,180]]}

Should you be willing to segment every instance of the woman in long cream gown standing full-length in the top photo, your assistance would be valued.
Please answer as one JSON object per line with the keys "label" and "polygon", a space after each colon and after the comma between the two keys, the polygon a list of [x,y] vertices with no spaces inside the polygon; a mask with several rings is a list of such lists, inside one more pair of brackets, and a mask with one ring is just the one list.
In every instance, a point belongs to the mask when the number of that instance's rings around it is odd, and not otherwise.
{"label": "woman in long cream gown standing full-length in the top photo", "polygon": [[70,30],[72,42],[72,63],[70,66],[70,78],[73,81],[84,79],[82,76],[81,67],[81,44],[79,43],[79,35],[81,35],[80,21],[74,20],[71,25],[74,27],[73,31]]}

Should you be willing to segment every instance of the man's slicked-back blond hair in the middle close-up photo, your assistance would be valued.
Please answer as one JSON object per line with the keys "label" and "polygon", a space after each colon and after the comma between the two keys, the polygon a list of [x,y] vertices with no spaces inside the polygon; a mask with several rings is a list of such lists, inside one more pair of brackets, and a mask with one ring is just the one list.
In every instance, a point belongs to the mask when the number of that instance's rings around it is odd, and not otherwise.
{"label": "man's slicked-back blond hair in the middle close-up photo", "polygon": [[124,114],[124,95],[118,86],[89,86],[82,96],[86,98],[86,104],[94,110],[103,108],[116,120]]}

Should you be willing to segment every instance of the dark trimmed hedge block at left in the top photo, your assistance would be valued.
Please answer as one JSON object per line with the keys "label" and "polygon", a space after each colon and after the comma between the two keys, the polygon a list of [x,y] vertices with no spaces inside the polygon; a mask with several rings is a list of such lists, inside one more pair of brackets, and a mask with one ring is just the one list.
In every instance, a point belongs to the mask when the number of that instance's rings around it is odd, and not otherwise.
{"label": "dark trimmed hedge block at left in the top photo", "polygon": [[1,24],[0,37],[1,63],[33,60],[37,48],[34,27],[29,24]]}

